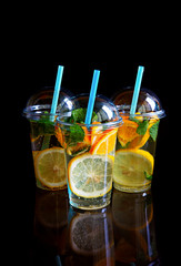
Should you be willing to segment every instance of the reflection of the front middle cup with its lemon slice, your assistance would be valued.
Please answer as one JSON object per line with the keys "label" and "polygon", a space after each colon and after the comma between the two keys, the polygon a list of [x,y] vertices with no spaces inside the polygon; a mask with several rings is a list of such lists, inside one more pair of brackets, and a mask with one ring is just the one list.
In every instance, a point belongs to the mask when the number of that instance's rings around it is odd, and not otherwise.
{"label": "reflection of the front middle cup with its lemon slice", "polygon": [[73,212],[70,208],[68,265],[114,265],[111,209]]}

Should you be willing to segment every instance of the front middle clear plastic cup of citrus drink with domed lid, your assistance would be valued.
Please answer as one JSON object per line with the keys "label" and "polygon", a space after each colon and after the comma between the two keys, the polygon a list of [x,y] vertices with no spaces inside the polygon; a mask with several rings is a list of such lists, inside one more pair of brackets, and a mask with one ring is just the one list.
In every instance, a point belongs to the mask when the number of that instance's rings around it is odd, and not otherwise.
{"label": "front middle clear plastic cup of citrus drink with domed lid", "polygon": [[79,112],[78,116],[83,116],[88,100],[88,95],[77,96],[73,116],[57,121],[66,150],[69,202],[77,208],[97,209],[111,201],[117,131],[122,120],[110,100],[97,96],[95,121],[89,125],[71,123]]}

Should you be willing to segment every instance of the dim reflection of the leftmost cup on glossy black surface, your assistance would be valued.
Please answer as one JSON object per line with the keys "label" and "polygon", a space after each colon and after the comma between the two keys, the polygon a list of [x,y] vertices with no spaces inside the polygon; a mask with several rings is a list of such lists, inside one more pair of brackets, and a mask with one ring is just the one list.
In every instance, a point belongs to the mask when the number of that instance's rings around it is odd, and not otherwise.
{"label": "dim reflection of the leftmost cup on glossy black surface", "polygon": [[[49,192],[37,188],[34,209],[34,259],[37,264],[39,259],[46,263],[49,258],[51,259],[52,255],[66,253],[67,226],[67,191]],[[51,263],[42,265],[53,265]]]}

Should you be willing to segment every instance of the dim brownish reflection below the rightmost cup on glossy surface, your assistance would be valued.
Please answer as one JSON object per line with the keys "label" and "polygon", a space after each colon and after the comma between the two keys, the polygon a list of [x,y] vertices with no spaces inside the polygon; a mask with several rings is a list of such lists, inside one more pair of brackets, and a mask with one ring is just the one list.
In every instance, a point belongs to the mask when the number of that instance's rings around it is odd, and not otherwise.
{"label": "dim brownish reflection below the rightmost cup on glossy surface", "polygon": [[[149,265],[158,257],[151,192],[112,197],[117,265]],[[158,265],[158,264],[155,264]]]}

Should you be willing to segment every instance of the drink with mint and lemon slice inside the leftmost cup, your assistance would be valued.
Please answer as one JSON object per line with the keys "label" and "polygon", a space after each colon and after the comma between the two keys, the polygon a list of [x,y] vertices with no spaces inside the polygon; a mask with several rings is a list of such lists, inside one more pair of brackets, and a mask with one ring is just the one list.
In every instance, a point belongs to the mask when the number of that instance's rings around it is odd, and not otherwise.
{"label": "drink with mint and lemon slice inside the leftmost cup", "polygon": [[67,187],[64,151],[57,137],[57,129],[50,116],[30,121],[31,147],[37,186],[43,190]]}

